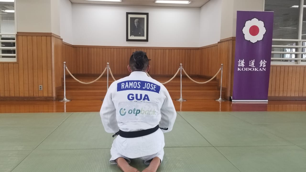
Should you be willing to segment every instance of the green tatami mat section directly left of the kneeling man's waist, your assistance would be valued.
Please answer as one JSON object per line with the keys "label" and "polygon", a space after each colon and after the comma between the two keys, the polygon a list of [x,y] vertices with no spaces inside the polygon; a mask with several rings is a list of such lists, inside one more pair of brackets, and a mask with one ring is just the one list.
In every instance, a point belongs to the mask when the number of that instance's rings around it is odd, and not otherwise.
{"label": "green tatami mat section directly left of the kneeling man's waist", "polygon": [[37,149],[111,148],[113,134],[104,131],[99,112],[73,113]]}

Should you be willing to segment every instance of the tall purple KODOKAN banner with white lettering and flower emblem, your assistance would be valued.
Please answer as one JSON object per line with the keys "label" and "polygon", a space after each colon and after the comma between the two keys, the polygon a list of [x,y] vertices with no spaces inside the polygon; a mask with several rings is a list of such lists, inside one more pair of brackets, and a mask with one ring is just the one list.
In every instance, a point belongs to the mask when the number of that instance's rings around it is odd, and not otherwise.
{"label": "tall purple KODOKAN banner with white lettering and flower emblem", "polygon": [[273,12],[237,11],[233,100],[267,100]]}

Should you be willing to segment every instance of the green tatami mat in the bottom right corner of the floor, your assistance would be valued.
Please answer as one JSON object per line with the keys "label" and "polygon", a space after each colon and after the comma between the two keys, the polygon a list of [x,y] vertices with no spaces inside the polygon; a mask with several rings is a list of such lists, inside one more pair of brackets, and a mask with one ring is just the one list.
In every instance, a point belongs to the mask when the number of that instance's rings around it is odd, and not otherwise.
{"label": "green tatami mat in the bottom right corner of the floor", "polygon": [[306,171],[306,150],[295,145],[217,149],[241,172]]}

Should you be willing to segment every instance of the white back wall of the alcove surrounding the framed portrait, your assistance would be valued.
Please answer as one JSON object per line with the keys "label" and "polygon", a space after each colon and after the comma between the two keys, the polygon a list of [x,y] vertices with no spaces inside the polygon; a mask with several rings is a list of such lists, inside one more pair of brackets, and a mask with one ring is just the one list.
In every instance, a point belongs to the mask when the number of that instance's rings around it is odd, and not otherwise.
{"label": "white back wall of the alcove surrounding the framed portrait", "polygon": [[[126,41],[126,12],[149,13],[149,41]],[[199,47],[200,8],[72,4],[74,45]]]}

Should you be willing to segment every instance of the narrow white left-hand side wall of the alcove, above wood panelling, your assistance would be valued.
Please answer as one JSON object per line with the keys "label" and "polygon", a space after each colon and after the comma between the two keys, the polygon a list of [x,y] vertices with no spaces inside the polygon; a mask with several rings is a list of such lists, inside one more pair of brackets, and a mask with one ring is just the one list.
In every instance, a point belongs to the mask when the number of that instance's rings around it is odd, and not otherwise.
{"label": "narrow white left-hand side wall of the alcove, above wood panelling", "polygon": [[60,1],[60,32],[64,42],[73,44],[72,4],[69,0]]}

